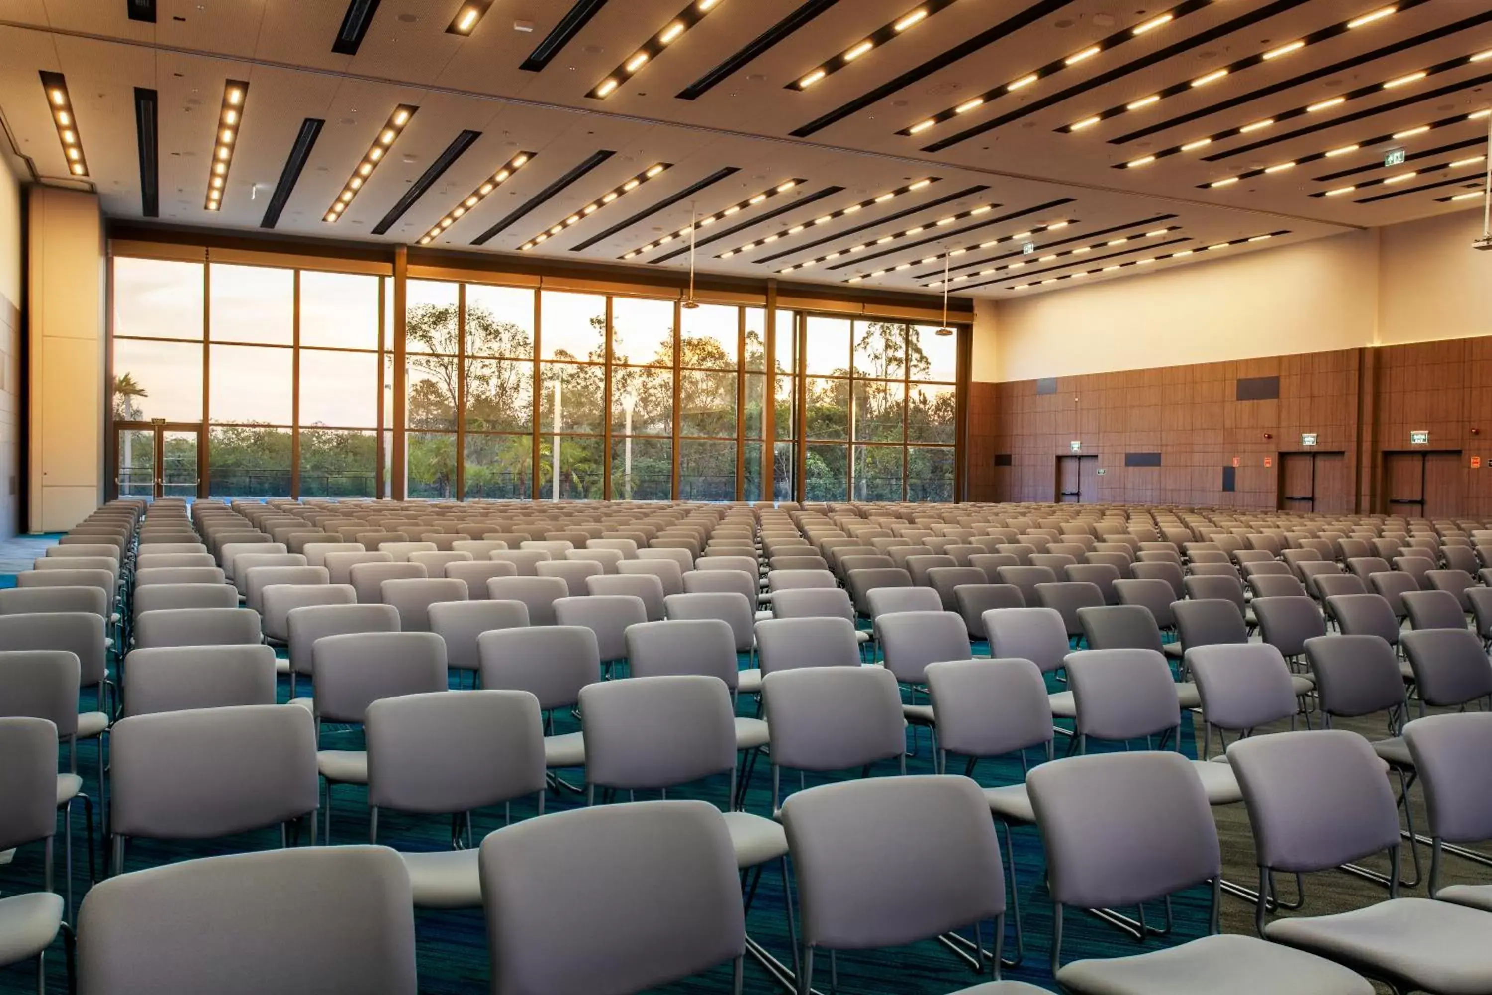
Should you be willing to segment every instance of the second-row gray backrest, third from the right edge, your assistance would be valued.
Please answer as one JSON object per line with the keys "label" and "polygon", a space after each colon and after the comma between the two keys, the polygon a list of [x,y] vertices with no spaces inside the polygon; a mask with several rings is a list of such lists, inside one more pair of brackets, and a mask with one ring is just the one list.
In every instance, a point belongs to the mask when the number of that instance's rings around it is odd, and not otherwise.
{"label": "second-row gray backrest, third from the right edge", "polygon": [[1247,731],[1295,715],[1291,668],[1268,643],[1213,643],[1186,650],[1186,668],[1203,700],[1203,719]]}

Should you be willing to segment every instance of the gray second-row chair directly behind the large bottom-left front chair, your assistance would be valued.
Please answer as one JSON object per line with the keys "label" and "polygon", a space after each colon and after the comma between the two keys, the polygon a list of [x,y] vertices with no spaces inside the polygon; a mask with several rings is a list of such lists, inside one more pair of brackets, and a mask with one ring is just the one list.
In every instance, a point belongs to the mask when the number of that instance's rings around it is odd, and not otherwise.
{"label": "gray second-row chair directly behind the large bottom-left front chair", "polygon": [[[204,840],[312,816],[316,740],[297,706],[136,715],[109,741],[112,870],[125,840]],[[90,898],[91,901],[91,898]]]}

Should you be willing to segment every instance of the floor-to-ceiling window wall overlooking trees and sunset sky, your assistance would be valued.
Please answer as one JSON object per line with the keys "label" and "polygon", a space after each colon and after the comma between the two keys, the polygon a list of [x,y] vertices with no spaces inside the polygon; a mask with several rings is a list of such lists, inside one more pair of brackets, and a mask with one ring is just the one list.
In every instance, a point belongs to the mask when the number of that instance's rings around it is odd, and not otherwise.
{"label": "floor-to-ceiling window wall overlooking trees and sunset sky", "polygon": [[213,497],[953,497],[956,351],[932,327],[409,279],[400,371],[392,285],[115,258],[110,407],[140,427],[119,465],[152,439],[194,462],[195,436],[148,439],[166,419],[200,428]]}

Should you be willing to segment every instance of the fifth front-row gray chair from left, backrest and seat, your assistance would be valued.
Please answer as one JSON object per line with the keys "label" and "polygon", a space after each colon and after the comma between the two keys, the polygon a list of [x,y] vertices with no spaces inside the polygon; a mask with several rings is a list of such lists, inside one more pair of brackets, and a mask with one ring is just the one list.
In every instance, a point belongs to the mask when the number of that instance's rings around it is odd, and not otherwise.
{"label": "fifth front-row gray chair from left, backrest and seat", "polygon": [[[1379,755],[1356,732],[1319,729],[1228,747],[1253,826],[1265,940],[1338,961],[1394,991],[1492,988],[1485,911],[1398,897],[1399,820]],[[1271,871],[1308,873],[1389,852],[1391,898],[1332,916],[1267,922]]]}

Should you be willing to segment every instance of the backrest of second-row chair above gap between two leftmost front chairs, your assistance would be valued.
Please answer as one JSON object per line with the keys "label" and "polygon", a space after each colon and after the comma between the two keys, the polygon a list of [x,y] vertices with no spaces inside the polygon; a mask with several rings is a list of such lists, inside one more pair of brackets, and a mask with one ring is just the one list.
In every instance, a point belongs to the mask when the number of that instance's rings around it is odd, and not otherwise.
{"label": "backrest of second-row chair above gap between two leftmost front chairs", "polygon": [[364,721],[369,804],[458,813],[545,789],[545,726],[527,691],[382,698]]}

